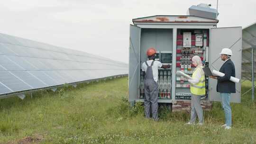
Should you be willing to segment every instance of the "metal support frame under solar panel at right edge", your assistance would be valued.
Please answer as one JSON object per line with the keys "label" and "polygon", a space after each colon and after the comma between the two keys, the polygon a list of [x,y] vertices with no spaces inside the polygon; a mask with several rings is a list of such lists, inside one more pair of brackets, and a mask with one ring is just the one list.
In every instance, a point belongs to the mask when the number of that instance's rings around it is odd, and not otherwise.
{"label": "metal support frame under solar panel at right edge", "polygon": [[[255,91],[255,84],[254,84],[254,76],[255,76],[255,53],[254,53],[254,49],[256,48],[256,23],[243,28],[243,78],[245,78],[245,80],[251,80],[252,83],[252,88],[250,90],[247,90],[243,95],[247,94],[249,91],[252,90],[252,101],[254,101],[254,91]],[[246,54],[250,54],[250,57],[247,56]],[[247,68],[247,65],[250,63],[250,73],[246,72],[245,70],[249,69]]]}

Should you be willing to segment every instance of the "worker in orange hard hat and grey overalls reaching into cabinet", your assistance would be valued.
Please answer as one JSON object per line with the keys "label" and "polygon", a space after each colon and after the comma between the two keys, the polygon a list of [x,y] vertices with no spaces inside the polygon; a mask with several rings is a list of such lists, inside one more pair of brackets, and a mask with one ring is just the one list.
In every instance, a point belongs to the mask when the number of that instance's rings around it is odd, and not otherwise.
{"label": "worker in orange hard hat and grey overalls reaching into cabinet", "polygon": [[152,118],[158,121],[158,68],[170,68],[170,64],[163,65],[159,61],[155,61],[155,48],[151,47],[146,51],[148,60],[142,64],[142,71],[144,77],[144,112],[146,118],[150,118],[150,109],[152,111]]}

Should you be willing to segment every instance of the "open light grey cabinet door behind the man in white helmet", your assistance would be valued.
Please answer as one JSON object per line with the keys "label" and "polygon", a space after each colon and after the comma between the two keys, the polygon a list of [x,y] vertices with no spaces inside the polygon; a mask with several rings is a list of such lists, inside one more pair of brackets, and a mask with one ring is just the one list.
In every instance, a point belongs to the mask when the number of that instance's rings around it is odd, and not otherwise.
{"label": "open light grey cabinet door behind the man in white helmet", "polygon": [[[209,67],[211,70],[219,71],[224,63],[219,54],[222,48],[230,48],[232,50],[231,60],[235,64],[236,78],[241,79],[242,27],[210,29]],[[209,79],[209,99],[211,101],[221,100],[216,87],[217,80]],[[231,94],[230,102],[241,102],[241,83],[236,83],[236,93]]]}

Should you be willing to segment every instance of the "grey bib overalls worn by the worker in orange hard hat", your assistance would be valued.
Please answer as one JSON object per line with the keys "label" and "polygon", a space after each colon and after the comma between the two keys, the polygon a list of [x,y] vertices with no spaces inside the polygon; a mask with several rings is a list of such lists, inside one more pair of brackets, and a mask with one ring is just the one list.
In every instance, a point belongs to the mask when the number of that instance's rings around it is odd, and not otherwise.
{"label": "grey bib overalls worn by the worker in orange hard hat", "polygon": [[[145,62],[146,63],[146,62]],[[146,75],[144,78],[144,111],[146,118],[150,118],[150,106],[152,110],[152,118],[154,120],[158,120],[158,84],[154,81],[152,65],[154,61],[151,63],[150,66],[146,63]]]}

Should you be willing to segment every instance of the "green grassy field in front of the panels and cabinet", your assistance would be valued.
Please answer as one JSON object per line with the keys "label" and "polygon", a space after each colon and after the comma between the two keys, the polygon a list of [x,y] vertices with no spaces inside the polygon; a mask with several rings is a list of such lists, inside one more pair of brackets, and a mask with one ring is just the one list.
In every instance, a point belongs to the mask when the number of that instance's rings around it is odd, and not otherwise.
{"label": "green grassy field in front of the panels and cabinet", "polygon": [[[243,83],[243,92],[250,88]],[[256,144],[256,103],[232,104],[231,130],[220,127],[220,103],[204,112],[204,126],[184,126],[190,114],[160,108],[147,120],[143,106],[129,108],[127,77],[39,91],[24,100],[0,100],[0,144]]]}

